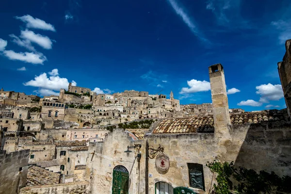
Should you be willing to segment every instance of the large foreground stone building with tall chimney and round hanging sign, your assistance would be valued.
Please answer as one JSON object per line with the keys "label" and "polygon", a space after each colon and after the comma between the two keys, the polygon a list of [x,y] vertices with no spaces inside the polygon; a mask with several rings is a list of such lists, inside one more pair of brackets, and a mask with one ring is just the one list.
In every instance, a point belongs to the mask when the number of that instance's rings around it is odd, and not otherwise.
{"label": "large foreground stone building with tall chimney and round hanging sign", "polygon": [[[230,114],[223,66],[210,66],[209,75],[213,115],[161,119],[143,138],[116,129],[89,144],[92,194],[206,194],[213,186],[206,163],[215,158],[291,176],[287,111]],[[137,148],[125,153],[128,146]]]}

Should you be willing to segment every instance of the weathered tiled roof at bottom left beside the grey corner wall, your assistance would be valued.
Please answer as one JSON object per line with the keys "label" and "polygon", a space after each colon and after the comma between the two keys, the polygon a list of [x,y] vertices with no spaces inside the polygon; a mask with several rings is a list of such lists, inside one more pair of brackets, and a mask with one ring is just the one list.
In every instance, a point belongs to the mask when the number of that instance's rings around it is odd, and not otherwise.
{"label": "weathered tiled roof at bottom left beside the grey corner wall", "polygon": [[60,181],[60,174],[32,165],[28,168],[26,186],[52,185]]}

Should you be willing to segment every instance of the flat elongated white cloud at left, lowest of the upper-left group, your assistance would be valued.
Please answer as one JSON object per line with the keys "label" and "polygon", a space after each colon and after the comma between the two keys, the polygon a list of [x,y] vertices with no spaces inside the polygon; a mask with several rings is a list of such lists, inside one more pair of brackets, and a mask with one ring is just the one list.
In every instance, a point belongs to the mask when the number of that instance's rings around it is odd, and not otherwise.
{"label": "flat elongated white cloud at left, lowest of the upper-left group", "polygon": [[32,64],[43,64],[47,60],[42,53],[34,52],[14,52],[13,50],[4,50],[3,54],[11,60],[19,60]]}

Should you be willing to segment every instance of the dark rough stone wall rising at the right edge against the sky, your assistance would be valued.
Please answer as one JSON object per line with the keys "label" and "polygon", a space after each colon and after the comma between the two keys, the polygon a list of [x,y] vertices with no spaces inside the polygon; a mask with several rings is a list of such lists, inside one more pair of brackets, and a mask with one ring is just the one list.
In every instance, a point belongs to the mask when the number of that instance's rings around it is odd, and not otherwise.
{"label": "dark rough stone wall rising at the right edge against the sky", "polygon": [[291,39],[285,43],[286,53],[283,61],[278,63],[278,72],[284,93],[285,103],[290,119],[291,112]]}

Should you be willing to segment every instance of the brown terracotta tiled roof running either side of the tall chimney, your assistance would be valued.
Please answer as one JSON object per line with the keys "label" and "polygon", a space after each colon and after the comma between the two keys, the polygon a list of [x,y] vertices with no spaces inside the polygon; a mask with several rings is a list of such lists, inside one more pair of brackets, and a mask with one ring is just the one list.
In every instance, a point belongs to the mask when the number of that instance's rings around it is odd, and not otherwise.
{"label": "brown terracotta tiled roof running either side of the tall chimney", "polygon": [[[266,110],[259,112],[245,112],[231,114],[232,125],[262,122],[286,122],[287,110]],[[152,133],[213,133],[213,116],[170,118],[162,120]]]}

